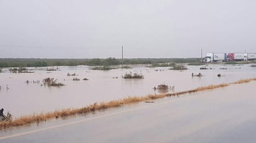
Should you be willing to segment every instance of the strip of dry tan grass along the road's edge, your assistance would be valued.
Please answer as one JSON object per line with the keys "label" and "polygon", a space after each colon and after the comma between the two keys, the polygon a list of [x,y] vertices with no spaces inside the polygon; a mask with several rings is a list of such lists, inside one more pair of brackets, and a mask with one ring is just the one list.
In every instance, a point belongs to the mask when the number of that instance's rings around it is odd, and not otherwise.
{"label": "strip of dry tan grass along the road's edge", "polygon": [[47,119],[52,119],[52,118],[60,118],[60,117],[65,117],[65,116],[70,116],[70,115],[90,113],[92,111],[118,107],[118,106],[127,105],[127,104],[131,104],[131,103],[145,102],[147,100],[155,100],[158,98],[178,96],[178,95],[182,95],[185,93],[193,93],[193,92],[200,92],[203,90],[217,89],[217,88],[221,88],[221,87],[227,87],[231,84],[243,84],[243,83],[250,82],[252,80],[256,80],[256,78],[242,79],[242,80],[238,80],[236,82],[231,82],[229,84],[208,85],[208,86],[198,87],[196,89],[186,90],[186,91],[176,92],[176,93],[147,95],[145,97],[127,97],[127,98],[123,98],[123,99],[119,99],[119,100],[112,100],[111,102],[94,103],[93,105],[85,106],[83,108],[78,108],[78,109],[68,108],[68,109],[64,109],[64,110],[56,110],[56,111],[53,111],[50,113],[40,113],[38,115],[21,116],[20,118],[17,118],[14,120],[11,119],[10,121],[1,121],[0,129],[8,128],[11,126],[21,126],[24,124],[36,123],[39,121],[46,121]]}

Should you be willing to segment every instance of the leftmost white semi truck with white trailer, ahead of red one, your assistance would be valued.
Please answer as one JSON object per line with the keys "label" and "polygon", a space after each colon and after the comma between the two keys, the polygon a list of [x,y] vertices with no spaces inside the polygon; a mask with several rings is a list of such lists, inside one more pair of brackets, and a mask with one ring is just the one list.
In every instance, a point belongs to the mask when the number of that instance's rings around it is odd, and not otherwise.
{"label": "leftmost white semi truck with white trailer, ahead of red one", "polygon": [[226,61],[227,54],[226,53],[207,53],[206,56],[204,56],[204,62],[206,63],[212,63],[212,62],[222,62]]}

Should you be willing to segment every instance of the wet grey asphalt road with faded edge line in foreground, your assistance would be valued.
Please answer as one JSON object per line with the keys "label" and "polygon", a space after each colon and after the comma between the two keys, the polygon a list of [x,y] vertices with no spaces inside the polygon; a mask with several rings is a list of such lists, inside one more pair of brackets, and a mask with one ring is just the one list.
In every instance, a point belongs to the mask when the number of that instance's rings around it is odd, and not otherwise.
{"label": "wet grey asphalt road with faded edge line in foreground", "polygon": [[255,85],[6,129],[0,142],[256,142]]}

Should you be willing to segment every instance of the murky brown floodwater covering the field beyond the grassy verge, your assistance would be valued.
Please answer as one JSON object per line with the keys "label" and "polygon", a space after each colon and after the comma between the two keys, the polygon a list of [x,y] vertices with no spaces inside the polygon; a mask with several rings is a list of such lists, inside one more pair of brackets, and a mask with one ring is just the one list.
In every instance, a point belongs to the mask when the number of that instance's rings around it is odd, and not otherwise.
{"label": "murky brown floodwater covering the field beyond the grassy verge", "polygon": [[[175,86],[168,92],[179,92],[210,84],[234,82],[256,77],[256,68],[245,65],[209,65],[213,69],[200,70],[200,66],[187,66],[185,71],[172,71],[168,67],[137,66],[132,69],[94,71],[88,66],[58,66],[58,71],[47,71],[47,67],[28,67],[34,73],[14,74],[7,69],[0,73],[0,107],[14,117],[47,113],[64,108],[80,108],[95,102],[109,102],[128,96],[145,96],[158,93],[153,90],[158,84]],[[52,67],[50,67],[52,68]],[[57,67],[53,67],[57,68]],[[122,79],[122,75],[138,72],[144,79]],[[201,72],[203,77],[191,77]],[[67,73],[78,76],[67,76]],[[217,74],[223,75],[217,77]],[[65,84],[48,87],[42,80],[50,77]],[[79,81],[72,80],[74,77]],[[116,78],[117,77],[117,78]],[[89,80],[83,80],[87,78]],[[29,83],[25,83],[29,80]],[[39,80],[39,83],[34,83]],[[7,89],[7,87],[8,89]]]}

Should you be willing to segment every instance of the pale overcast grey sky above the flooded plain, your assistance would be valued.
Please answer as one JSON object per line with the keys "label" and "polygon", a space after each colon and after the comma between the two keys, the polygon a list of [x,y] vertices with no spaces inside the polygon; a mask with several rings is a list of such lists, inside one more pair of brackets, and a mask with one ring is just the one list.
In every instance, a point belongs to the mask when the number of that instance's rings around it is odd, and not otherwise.
{"label": "pale overcast grey sky above the flooded plain", "polygon": [[256,52],[255,0],[0,0],[0,58]]}

